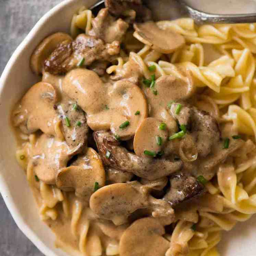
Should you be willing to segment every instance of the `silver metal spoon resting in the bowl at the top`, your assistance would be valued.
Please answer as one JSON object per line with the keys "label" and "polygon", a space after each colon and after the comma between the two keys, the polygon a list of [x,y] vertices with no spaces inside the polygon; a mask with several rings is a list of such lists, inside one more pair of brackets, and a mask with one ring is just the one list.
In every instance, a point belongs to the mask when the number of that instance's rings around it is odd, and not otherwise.
{"label": "silver metal spoon resting in the bowl at the top", "polygon": [[[256,22],[256,13],[246,14],[211,14],[192,8],[181,1],[145,0],[152,11],[154,21],[173,20],[182,16],[190,16],[197,24],[202,23],[251,23]],[[217,4],[217,3],[216,3]],[[246,4],[246,3],[245,3]],[[256,4],[256,3],[255,3]],[[104,0],[98,1],[90,9],[95,11],[104,8]]]}

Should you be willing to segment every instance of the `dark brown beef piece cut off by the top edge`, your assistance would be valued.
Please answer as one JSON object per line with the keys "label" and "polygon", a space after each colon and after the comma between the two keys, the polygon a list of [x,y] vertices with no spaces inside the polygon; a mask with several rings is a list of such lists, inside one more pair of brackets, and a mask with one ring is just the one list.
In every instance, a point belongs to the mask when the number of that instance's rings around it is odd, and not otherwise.
{"label": "dark brown beef piece cut off by the top edge", "polygon": [[[134,10],[136,12],[137,22],[146,22],[152,20],[151,11],[142,4],[142,0],[105,0],[105,6],[114,16],[123,17],[125,11]],[[129,19],[133,23],[135,15],[131,14]]]}

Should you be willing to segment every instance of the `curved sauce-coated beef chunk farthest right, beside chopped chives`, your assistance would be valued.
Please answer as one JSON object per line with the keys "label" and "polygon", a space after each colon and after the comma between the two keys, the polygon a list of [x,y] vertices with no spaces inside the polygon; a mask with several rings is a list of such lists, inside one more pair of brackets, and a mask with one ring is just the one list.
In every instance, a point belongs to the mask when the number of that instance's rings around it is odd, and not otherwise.
{"label": "curved sauce-coated beef chunk farthest right, beside chopped chives", "polygon": [[218,122],[206,111],[202,111],[181,102],[181,111],[175,111],[179,103],[173,103],[171,113],[179,124],[185,124],[187,130],[194,138],[199,157],[206,157],[211,149],[220,141],[220,130]]}

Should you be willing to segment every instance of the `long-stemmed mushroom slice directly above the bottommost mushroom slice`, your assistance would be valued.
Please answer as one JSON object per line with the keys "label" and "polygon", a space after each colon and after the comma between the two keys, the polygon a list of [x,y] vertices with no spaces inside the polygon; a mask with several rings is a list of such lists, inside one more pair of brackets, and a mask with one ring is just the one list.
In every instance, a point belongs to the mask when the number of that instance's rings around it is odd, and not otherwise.
{"label": "long-stemmed mushroom slice directly above the bottommost mushroom slice", "polygon": [[173,220],[170,204],[149,195],[150,189],[137,181],[115,183],[97,190],[90,198],[90,208],[102,219],[112,220],[115,225],[127,222],[129,215],[138,209],[148,209],[153,217]]}

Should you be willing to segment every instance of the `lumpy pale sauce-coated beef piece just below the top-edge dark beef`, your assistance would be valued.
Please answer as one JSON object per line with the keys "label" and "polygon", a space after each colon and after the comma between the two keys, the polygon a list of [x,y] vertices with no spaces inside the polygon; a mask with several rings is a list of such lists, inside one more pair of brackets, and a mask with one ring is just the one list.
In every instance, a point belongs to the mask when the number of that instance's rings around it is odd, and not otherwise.
{"label": "lumpy pale sauce-coated beef piece just below the top-edge dark beef", "polygon": [[122,41],[122,38],[129,27],[129,24],[122,19],[116,20],[108,12],[108,8],[101,9],[92,20],[93,28],[89,31],[89,35],[101,38],[106,43],[115,40]]}

